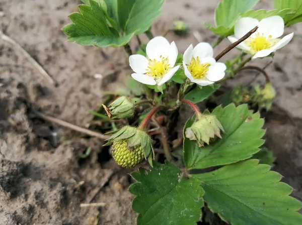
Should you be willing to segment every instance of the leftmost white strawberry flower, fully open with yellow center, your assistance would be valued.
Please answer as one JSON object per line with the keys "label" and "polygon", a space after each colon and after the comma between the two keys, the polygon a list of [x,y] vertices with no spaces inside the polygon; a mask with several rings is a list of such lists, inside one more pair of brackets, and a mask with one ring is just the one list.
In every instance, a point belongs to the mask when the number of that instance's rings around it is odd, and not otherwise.
{"label": "leftmost white strawberry flower, fully open with yellow center", "polygon": [[164,37],[151,39],[146,46],[146,55],[131,55],[130,67],[135,73],[131,76],[138,82],[158,85],[166,83],[178,70],[174,67],[178,50],[174,42],[171,44]]}

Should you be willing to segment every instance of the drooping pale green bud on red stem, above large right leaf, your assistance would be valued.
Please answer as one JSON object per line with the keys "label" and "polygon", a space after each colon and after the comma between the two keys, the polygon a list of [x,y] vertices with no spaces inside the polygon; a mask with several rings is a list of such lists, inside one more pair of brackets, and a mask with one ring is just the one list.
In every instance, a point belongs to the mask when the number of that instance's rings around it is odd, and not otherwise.
{"label": "drooping pale green bud on red stem, above large right leaf", "polygon": [[185,131],[185,135],[190,140],[196,140],[199,147],[204,143],[209,144],[210,139],[215,136],[221,138],[220,130],[224,132],[222,125],[213,115],[201,115],[198,120]]}

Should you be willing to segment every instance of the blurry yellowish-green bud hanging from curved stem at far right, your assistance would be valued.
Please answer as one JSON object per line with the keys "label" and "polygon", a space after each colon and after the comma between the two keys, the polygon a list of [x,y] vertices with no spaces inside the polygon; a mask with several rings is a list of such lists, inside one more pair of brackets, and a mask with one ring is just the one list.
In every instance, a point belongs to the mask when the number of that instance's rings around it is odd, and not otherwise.
{"label": "blurry yellowish-green bud hanging from curved stem at far right", "polygon": [[276,96],[276,90],[271,83],[266,83],[263,89],[260,89],[259,85],[255,87],[254,101],[258,103],[260,108],[269,110],[272,106],[273,99]]}

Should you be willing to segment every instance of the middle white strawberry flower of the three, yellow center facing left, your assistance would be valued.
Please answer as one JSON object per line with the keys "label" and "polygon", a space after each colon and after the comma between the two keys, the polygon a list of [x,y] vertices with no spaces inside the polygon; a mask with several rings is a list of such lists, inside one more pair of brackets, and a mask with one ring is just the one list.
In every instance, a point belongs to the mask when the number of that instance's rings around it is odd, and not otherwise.
{"label": "middle white strawberry flower of the three, yellow center facing left", "polygon": [[190,45],[184,53],[183,66],[185,75],[201,86],[213,84],[225,75],[226,66],[213,58],[213,48],[210,44],[201,42]]}

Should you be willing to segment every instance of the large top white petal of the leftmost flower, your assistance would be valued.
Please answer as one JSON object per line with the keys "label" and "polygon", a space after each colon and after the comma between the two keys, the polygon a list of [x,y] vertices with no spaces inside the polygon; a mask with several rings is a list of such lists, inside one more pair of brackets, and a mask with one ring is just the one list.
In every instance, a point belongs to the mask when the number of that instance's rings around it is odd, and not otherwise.
{"label": "large top white petal of the leftmost flower", "polygon": [[164,37],[155,37],[151,39],[146,46],[146,53],[149,59],[159,60],[160,56],[167,58],[169,56],[170,43]]}

